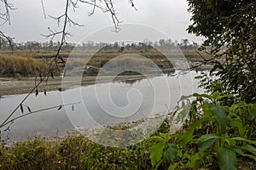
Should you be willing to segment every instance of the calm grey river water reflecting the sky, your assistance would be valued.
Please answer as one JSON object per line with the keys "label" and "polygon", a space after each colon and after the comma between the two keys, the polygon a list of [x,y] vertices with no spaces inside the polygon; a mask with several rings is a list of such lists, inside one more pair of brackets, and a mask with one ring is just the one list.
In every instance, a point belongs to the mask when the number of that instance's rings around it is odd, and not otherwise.
{"label": "calm grey river water reflecting the sky", "polygon": [[[25,116],[15,121],[10,127],[11,139],[24,139],[35,133],[56,136],[74,126],[97,127],[119,122],[131,122],[142,117],[151,116],[172,109],[182,95],[201,92],[198,82],[191,74],[178,77],[144,78],[126,82],[108,82],[80,88],[72,88],[63,92],[49,92],[47,96],[31,95],[25,105],[32,111],[65,103],[81,101],[79,105],[67,106],[60,111],[49,110]],[[167,82],[167,86],[166,83]],[[167,95],[166,87],[170,95]],[[9,115],[26,94],[11,95],[0,99],[0,122]],[[26,112],[26,107],[24,111]],[[74,109],[74,111],[73,111]],[[16,111],[14,116],[22,115]],[[5,132],[7,133],[7,132]]]}

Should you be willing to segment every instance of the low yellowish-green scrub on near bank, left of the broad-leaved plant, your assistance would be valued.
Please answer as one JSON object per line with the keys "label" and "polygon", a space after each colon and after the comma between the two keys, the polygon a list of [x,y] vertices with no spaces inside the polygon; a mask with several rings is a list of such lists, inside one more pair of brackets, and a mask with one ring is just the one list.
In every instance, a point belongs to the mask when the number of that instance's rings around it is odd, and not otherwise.
{"label": "low yellowish-green scrub on near bank, left of the broad-leaved plant", "polygon": [[150,169],[148,146],[104,147],[68,136],[47,142],[44,139],[18,142],[0,149],[0,169]]}

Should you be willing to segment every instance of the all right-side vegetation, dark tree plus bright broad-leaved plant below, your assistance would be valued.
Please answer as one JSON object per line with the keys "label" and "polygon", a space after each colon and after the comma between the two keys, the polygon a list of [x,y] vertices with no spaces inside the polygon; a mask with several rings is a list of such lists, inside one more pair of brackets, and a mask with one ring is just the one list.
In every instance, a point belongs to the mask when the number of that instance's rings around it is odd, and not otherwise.
{"label": "all right-side vegetation, dark tree plus bright broad-leaved plant below", "polygon": [[151,138],[156,140],[151,148],[152,164],[158,168],[169,162],[169,169],[206,165],[236,169],[241,165],[237,161],[251,160],[255,165],[256,3],[188,2],[193,20],[188,31],[206,37],[201,49],[214,59],[224,56],[224,62],[212,61],[210,75],[198,77],[208,94],[193,94],[192,103],[183,101],[183,107],[177,109],[182,119],[188,116],[184,131]]}

